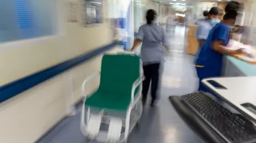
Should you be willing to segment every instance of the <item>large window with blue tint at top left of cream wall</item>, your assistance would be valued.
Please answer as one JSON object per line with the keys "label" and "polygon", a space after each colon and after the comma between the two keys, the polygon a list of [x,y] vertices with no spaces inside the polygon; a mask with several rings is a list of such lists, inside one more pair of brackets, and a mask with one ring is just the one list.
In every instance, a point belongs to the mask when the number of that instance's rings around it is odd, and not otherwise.
{"label": "large window with blue tint at top left of cream wall", "polygon": [[55,35],[56,0],[0,0],[0,43]]}

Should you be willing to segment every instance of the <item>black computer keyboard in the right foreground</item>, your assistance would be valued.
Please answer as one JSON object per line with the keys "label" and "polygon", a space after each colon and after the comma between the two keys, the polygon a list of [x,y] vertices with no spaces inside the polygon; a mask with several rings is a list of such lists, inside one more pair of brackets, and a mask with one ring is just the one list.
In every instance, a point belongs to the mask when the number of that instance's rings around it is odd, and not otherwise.
{"label": "black computer keyboard in the right foreground", "polygon": [[227,142],[256,142],[256,129],[252,122],[242,115],[230,112],[203,92],[195,92],[181,98],[183,103],[191,107]]}

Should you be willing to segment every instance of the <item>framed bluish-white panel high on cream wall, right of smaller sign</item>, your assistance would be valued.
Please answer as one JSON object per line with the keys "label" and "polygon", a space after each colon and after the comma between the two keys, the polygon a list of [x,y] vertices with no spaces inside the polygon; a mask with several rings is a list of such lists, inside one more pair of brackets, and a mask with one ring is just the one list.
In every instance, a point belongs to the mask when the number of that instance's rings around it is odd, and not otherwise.
{"label": "framed bluish-white panel high on cream wall, right of smaller sign", "polygon": [[84,26],[103,23],[103,0],[82,1]]}

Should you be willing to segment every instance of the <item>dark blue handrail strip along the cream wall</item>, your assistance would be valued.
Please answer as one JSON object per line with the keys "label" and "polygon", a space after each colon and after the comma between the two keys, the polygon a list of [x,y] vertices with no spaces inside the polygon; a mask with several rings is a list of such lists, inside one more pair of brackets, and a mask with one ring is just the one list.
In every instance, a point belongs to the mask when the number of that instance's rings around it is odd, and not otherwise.
{"label": "dark blue handrail strip along the cream wall", "polygon": [[114,41],[113,43],[97,48],[89,53],[85,53],[81,56],[72,58],[68,61],[62,62],[60,64],[51,66],[50,68],[47,68],[42,71],[38,71],[36,73],[33,73],[31,75],[28,75],[27,77],[18,79],[16,81],[13,81],[11,83],[7,83],[6,85],[0,87],[0,103],[4,102],[7,99],[10,99],[21,92],[32,88],[39,83],[48,80],[64,71],[67,71],[70,68],[73,68],[74,66],[85,62],[92,58],[95,55],[98,55],[102,52],[105,52],[106,50],[113,48],[118,44],[117,41]]}

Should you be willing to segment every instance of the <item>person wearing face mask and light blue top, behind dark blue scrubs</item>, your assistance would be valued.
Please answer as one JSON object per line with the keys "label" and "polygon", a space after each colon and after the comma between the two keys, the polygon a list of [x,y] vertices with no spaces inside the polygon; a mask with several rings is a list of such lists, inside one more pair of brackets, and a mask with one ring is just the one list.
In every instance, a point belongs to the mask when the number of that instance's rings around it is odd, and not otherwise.
{"label": "person wearing face mask and light blue top, behind dark blue scrubs", "polygon": [[195,56],[195,60],[198,57],[198,54],[201,51],[201,48],[204,45],[205,40],[207,39],[211,29],[215,26],[215,24],[220,23],[220,10],[218,7],[212,7],[212,9],[206,14],[206,19],[202,21],[196,30],[196,38],[198,41],[198,50]]}

